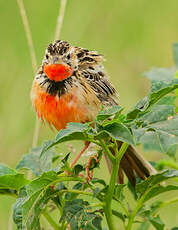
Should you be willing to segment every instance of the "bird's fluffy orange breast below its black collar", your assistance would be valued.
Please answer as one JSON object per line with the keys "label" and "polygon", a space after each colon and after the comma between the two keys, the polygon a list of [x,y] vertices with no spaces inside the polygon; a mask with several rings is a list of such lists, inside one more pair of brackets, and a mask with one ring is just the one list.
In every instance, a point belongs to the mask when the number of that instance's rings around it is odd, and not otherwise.
{"label": "bird's fluffy orange breast below its black collar", "polygon": [[68,122],[88,120],[87,108],[78,100],[75,90],[59,98],[48,94],[34,81],[31,99],[38,116],[57,130],[65,128]]}

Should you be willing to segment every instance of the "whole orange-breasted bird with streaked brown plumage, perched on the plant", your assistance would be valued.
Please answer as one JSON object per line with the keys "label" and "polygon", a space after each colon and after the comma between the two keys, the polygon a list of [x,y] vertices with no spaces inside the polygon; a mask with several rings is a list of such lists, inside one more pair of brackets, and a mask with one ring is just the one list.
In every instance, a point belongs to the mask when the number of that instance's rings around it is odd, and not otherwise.
{"label": "whole orange-breasted bird with streaked brown plumage, perched on the plant", "polygon": [[[72,46],[63,40],[50,43],[30,94],[38,117],[60,131],[69,122],[94,121],[101,106],[117,106],[118,93],[106,74],[103,62],[104,56],[97,51]],[[117,143],[120,148],[122,142]],[[71,167],[88,146],[89,142],[85,142]],[[106,154],[105,159],[111,171],[112,163]],[[135,186],[137,176],[144,180],[155,173],[154,167],[130,145],[121,159],[117,182],[124,183],[125,174]]]}

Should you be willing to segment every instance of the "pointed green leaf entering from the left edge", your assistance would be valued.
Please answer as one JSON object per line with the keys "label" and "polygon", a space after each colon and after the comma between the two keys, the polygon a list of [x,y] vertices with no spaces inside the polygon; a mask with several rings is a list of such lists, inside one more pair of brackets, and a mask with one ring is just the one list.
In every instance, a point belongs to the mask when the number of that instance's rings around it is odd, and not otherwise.
{"label": "pointed green leaf entering from the left edge", "polygon": [[29,181],[24,174],[17,173],[4,164],[0,164],[0,189],[19,190]]}

